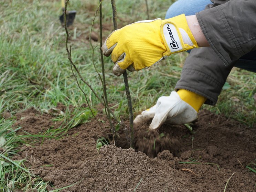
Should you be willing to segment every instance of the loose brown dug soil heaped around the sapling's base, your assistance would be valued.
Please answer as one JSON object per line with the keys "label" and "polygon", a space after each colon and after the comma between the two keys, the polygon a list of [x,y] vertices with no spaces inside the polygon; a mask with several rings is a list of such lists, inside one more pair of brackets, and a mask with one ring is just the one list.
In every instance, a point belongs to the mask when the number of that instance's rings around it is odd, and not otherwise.
{"label": "loose brown dug soil heaped around the sapling's base", "polygon": [[[17,114],[15,125],[38,134],[61,125],[52,118],[31,108]],[[120,130],[116,146],[98,151],[97,139],[111,134],[104,115],[99,113],[97,119],[101,127],[92,119],[61,139],[24,145],[15,159],[25,158],[34,174],[55,186],[48,190],[77,182],[62,191],[219,192],[235,173],[226,192],[256,191],[256,174],[246,168],[256,163],[256,127],[249,129],[202,110],[192,124],[193,135],[183,125],[163,125],[153,133],[143,125],[135,130],[135,150],[120,148],[127,146],[125,132]]]}

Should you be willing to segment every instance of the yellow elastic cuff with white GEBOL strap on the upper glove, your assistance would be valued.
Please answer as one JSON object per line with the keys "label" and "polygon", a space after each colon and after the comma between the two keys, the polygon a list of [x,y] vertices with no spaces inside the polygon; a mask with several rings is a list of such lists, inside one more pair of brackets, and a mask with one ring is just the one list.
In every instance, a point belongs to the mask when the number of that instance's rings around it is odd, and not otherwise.
{"label": "yellow elastic cuff with white GEBOL strap on the upper glove", "polygon": [[167,48],[163,56],[169,56],[172,53],[188,51],[198,47],[189,29],[185,14],[163,20],[160,31]]}

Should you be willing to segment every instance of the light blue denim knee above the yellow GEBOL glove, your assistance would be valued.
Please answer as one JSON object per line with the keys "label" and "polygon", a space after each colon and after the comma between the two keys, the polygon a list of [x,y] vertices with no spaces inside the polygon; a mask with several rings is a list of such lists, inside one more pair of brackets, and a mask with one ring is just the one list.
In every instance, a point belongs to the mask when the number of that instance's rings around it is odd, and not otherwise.
{"label": "light blue denim knee above the yellow GEBOL glove", "polygon": [[172,18],[183,13],[185,15],[194,15],[204,10],[205,6],[211,3],[210,0],[178,0],[169,7],[165,18]]}

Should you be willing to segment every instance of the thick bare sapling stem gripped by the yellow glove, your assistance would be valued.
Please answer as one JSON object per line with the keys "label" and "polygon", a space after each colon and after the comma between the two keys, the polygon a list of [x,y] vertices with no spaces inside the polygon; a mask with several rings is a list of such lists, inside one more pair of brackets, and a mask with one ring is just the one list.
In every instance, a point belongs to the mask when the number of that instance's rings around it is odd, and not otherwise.
{"label": "thick bare sapling stem gripped by the yellow glove", "polygon": [[[117,13],[116,13],[115,0],[111,0],[111,4],[112,4],[112,10],[113,10],[114,29],[117,30]],[[126,71],[124,72],[123,76],[124,76],[125,90],[126,90],[126,96],[127,96],[128,108],[129,108],[130,147],[134,148],[134,125],[133,125],[132,103],[131,103],[131,95],[130,95],[130,89],[129,89],[128,77],[127,77]]]}

